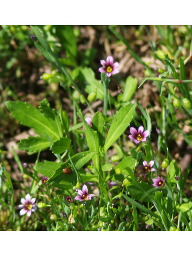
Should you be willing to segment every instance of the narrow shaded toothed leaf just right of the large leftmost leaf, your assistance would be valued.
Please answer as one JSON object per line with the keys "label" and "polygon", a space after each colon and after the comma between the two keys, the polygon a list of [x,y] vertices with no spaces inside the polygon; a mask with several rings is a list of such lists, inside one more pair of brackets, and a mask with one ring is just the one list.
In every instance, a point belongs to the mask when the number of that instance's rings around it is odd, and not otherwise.
{"label": "narrow shaded toothed leaf just right of the large leftmost leaf", "polygon": [[62,123],[56,111],[53,108],[50,108],[49,102],[44,99],[40,102],[40,106],[38,107],[40,111],[44,114],[44,116],[49,120],[50,124],[54,128],[55,132],[58,136],[63,136]]}

